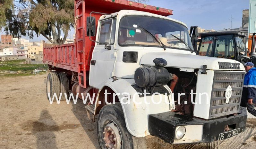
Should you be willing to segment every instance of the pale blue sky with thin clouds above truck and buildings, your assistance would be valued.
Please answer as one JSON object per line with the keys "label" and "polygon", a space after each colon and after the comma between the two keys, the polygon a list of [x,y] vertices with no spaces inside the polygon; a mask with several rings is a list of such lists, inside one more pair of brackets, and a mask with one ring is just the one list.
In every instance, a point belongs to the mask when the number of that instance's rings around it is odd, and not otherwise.
{"label": "pale blue sky with thin clouds above truck and buildings", "polygon": [[[249,0],[149,0],[146,4],[173,10],[170,18],[184,22],[188,28],[198,26],[204,29],[223,30],[242,26],[243,10],[249,9]],[[72,38],[71,29],[67,38]],[[29,39],[29,37],[22,37]],[[30,41],[47,40],[34,35]]]}

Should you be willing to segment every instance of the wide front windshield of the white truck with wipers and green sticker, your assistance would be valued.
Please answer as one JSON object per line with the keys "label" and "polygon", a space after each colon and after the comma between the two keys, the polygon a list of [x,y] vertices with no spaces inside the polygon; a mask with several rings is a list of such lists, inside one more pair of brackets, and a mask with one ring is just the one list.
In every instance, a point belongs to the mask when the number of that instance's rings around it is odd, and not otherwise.
{"label": "wide front windshield of the white truck with wipers and green sticker", "polygon": [[[158,37],[166,48],[193,49],[188,29],[185,26],[171,20],[149,16],[126,16],[122,18],[118,33],[118,43],[121,46],[162,46],[142,28]],[[177,39],[177,37],[186,44]]]}

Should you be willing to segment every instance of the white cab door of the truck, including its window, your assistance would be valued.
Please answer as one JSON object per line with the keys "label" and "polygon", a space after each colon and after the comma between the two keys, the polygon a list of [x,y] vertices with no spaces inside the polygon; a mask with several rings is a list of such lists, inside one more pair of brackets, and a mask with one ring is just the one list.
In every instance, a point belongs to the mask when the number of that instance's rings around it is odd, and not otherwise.
{"label": "white cab door of the truck, including its window", "polygon": [[[90,86],[97,89],[102,87],[102,84],[112,77],[114,70],[115,56],[114,40],[115,40],[116,19],[110,18],[99,22],[98,42],[92,52],[90,64]],[[110,45],[111,48],[105,49],[105,45]]]}

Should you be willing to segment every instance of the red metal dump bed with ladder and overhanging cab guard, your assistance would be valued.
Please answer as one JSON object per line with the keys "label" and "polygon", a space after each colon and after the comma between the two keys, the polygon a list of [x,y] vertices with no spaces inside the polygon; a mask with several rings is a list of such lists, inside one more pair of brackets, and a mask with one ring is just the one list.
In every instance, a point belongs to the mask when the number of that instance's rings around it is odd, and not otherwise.
{"label": "red metal dump bed with ladder and overhanging cab guard", "polygon": [[[130,2],[127,0],[75,0],[74,1],[76,21],[76,40],[73,44],[63,44],[49,46],[45,44],[43,49],[44,63],[78,72],[79,84],[86,87],[86,71],[90,69],[90,59],[95,43],[90,41],[86,35],[86,18],[90,12],[114,13],[120,10],[137,10],[143,12],[155,13],[158,15],[172,15],[172,10],[150,6],[146,4]],[[102,14],[92,14],[96,19],[96,28],[98,19]],[[92,37],[95,40],[96,36]]]}

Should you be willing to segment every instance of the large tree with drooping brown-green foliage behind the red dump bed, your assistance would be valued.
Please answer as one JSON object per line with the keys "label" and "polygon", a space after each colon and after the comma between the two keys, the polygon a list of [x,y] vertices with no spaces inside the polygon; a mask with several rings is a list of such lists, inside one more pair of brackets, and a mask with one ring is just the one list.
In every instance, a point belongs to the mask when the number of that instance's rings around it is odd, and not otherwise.
{"label": "large tree with drooping brown-green foliage behind the red dump bed", "polygon": [[70,27],[74,26],[73,0],[14,0],[13,2],[13,9],[6,18],[7,33],[30,38],[36,33],[37,36],[43,35],[54,44],[65,42]]}

